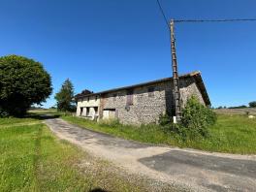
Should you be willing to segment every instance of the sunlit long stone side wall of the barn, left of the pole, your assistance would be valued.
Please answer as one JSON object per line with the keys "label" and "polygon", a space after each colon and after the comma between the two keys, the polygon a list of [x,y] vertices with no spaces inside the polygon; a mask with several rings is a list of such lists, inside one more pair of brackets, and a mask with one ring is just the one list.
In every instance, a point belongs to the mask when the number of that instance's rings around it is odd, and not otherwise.
{"label": "sunlit long stone side wall of the barn, left of the pole", "polygon": [[154,84],[155,90],[148,96],[147,88],[133,89],[133,105],[127,106],[127,90],[108,93],[104,96],[103,109],[115,109],[116,117],[125,124],[156,122],[161,112],[166,111],[164,83]]}

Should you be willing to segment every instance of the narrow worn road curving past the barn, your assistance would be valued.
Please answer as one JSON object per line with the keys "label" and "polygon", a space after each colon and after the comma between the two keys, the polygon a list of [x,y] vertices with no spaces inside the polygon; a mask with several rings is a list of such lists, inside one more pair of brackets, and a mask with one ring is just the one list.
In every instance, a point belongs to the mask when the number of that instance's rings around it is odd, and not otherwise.
{"label": "narrow worn road curving past the barn", "polygon": [[45,120],[61,139],[125,170],[192,191],[255,191],[256,156],[208,153],[140,144],[72,125]]}

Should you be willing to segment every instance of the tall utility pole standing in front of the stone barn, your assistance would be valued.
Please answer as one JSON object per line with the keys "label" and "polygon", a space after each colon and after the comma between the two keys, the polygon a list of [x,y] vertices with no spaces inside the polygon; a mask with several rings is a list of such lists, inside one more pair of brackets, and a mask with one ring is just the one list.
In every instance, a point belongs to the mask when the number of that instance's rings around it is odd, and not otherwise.
{"label": "tall utility pole standing in front of the stone barn", "polygon": [[173,67],[173,79],[174,79],[174,98],[176,106],[176,116],[174,116],[174,122],[178,122],[181,119],[181,106],[180,106],[180,93],[178,84],[178,73],[177,73],[177,61],[176,61],[176,38],[175,38],[175,20],[172,19],[170,22],[171,30],[171,53],[172,53],[172,67]]}

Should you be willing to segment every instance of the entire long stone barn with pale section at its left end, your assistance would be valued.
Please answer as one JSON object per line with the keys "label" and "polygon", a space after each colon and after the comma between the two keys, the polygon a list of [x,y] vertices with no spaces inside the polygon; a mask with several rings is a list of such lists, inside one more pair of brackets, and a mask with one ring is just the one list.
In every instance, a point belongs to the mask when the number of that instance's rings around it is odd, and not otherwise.
{"label": "entire long stone barn with pale section at its left end", "polygon": [[[77,116],[91,120],[117,118],[124,124],[158,122],[161,113],[174,112],[173,79],[153,80],[98,93],[80,93]],[[208,92],[200,72],[179,76],[181,106],[195,95],[210,106]]]}

